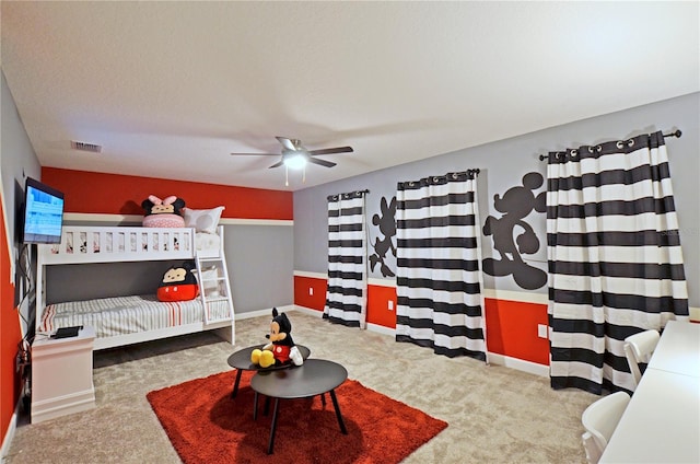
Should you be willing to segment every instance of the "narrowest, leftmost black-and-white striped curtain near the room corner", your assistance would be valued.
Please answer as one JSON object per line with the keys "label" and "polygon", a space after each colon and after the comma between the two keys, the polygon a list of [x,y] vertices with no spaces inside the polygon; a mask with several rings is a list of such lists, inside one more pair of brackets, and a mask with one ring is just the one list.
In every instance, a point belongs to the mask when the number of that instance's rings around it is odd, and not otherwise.
{"label": "narrowest, leftmost black-and-white striped curtain near the room corner", "polygon": [[366,220],[365,194],[328,197],[328,286],[323,317],[365,328]]}

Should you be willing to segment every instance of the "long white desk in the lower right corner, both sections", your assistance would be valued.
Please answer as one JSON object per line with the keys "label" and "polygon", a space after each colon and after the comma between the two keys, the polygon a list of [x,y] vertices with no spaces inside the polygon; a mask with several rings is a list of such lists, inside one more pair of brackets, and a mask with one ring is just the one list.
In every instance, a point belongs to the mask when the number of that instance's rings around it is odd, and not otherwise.
{"label": "long white desk in the lower right corner, both sections", "polygon": [[700,324],[666,325],[600,463],[700,463]]}

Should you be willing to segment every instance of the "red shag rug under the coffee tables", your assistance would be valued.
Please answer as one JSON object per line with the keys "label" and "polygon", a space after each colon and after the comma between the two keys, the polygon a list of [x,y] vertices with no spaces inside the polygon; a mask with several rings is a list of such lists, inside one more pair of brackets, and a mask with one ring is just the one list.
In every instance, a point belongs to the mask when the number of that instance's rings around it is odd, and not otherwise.
{"label": "red shag rug under the coffee tables", "polygon": [[150,392],[147,397],[186,464],[398,463],[447,427],[447,422],[347,380],[336,388],[348,429],[342,434],[330,396],[280,399],[275,454],[267,454],[270,414],[253,420],[253,372],[231,398],[234,371]]}

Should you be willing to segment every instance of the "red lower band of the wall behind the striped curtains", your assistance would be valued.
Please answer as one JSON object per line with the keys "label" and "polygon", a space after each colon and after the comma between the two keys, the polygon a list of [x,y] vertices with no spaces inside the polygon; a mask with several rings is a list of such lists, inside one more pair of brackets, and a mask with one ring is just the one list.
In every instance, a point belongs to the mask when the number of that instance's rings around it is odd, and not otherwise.
{"label": "red lower band of the wall behind the striped curtains", "polygon": [[[314,295],[308,295],[308,288]],[[326,279],[294,276],[294,304],[323,311]],[[393,302],[393,310],[388,302]],[[547,325],[547,305],[517,301],[485,301],[489,351],[510,358],[549,366],[549,341],[537,336],[537,326]],[[396,328],[396,289],[368,286],[368,323]]]}

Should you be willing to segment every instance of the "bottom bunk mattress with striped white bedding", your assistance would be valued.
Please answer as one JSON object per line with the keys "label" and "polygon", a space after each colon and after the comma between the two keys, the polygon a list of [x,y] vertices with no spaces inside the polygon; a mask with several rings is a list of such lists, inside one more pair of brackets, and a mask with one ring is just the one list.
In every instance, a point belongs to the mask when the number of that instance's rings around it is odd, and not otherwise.
{"label": "bottom bunk mattress with striped white bedding", "polygon": [[[94,349],[100,350],[220,328],[223,332],[220,335],[233,344],[234,323],[229,302],[208,301],[207,311],[205,315],[200,298],[162,302],[155,294],[55,303],[46,306],[39,333],[90,326],[95,330]],[[218,322],[206,324],[205,321]]]}

